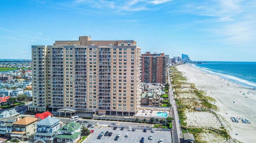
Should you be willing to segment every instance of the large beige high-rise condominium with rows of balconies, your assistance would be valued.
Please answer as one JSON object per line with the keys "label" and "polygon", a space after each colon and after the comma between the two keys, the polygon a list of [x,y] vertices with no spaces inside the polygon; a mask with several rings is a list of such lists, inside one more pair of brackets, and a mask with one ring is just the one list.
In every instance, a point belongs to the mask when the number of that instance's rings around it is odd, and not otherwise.
{"label": "large beige high-rise condominium with rows of balconies", "polygon": [[132,116],[141,101],[140,48],[133,40],[55,41],[32,46],[30,111]]}

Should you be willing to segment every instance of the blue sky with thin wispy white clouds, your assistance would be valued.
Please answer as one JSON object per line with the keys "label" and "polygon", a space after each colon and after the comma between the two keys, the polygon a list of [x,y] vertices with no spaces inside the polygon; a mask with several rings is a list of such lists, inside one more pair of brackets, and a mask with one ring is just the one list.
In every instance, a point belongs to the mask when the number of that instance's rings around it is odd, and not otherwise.
{"label": "blue sky with thin wispy white clouds", "polygon": [[141,51],[256,62],[255,0],[0,0],[0,58],[55,40],[135,40]]}

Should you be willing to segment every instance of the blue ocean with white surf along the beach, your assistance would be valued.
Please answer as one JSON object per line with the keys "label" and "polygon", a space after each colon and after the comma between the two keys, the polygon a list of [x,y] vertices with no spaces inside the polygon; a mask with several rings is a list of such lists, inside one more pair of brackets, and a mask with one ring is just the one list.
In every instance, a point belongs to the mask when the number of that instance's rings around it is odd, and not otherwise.
{"label": "blue ocean with white surf along the beach", "polygon": [[256,62],[208,62],[191,66],[239,85],[256,88]]}

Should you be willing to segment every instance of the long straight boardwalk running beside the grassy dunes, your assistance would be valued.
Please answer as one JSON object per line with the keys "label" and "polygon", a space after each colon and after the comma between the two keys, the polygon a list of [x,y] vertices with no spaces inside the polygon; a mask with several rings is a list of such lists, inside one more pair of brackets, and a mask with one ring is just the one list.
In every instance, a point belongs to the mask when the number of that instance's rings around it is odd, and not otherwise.
{"label": "long straight boardwalk running beside the grassy dunes", "polygon": [[178,110],[176,107],[175,99],[174,99],[174,94],[172,90],[172,85],[171,85],[171,77],[170,77],[170,69],[168,68],[168,83],[170,84],[170,89],[169,89],[169,100],[172,105],[171,108],[171,115],[174,118],[173,120],[173,142],[174,143],[180,143],[180,139],[182,137],[182,132],[180,128],[180,123],[179,123],[179,116],[178,116]]}

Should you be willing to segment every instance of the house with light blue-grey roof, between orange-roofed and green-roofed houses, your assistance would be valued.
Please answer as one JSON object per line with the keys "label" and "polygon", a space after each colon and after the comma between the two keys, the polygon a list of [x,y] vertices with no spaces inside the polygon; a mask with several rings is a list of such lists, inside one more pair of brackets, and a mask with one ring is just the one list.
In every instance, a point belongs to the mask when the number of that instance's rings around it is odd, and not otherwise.
{"label": "house with light blue-grey roof, between orange-roofed and green-roofed houses", "polygon": [[34,134],[34,143],[44,140],[46,143],[55,143],[59,134],[60,119],[47,117],[36,123],[37,132]]}

